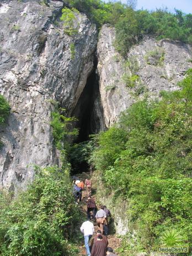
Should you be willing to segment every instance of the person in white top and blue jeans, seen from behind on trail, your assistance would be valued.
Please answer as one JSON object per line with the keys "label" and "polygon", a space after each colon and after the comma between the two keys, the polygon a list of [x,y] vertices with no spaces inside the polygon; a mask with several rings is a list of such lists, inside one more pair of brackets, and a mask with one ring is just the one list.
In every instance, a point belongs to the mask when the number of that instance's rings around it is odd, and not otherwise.
{"label": "person in white top and blue jeans, seen from behind on trail", "polygon": [[90,256],[89,239],[93,236],[94,226],[89,220],[84,221],[80,228],[84,234],[84,245],[86,247],[87,256]]}

